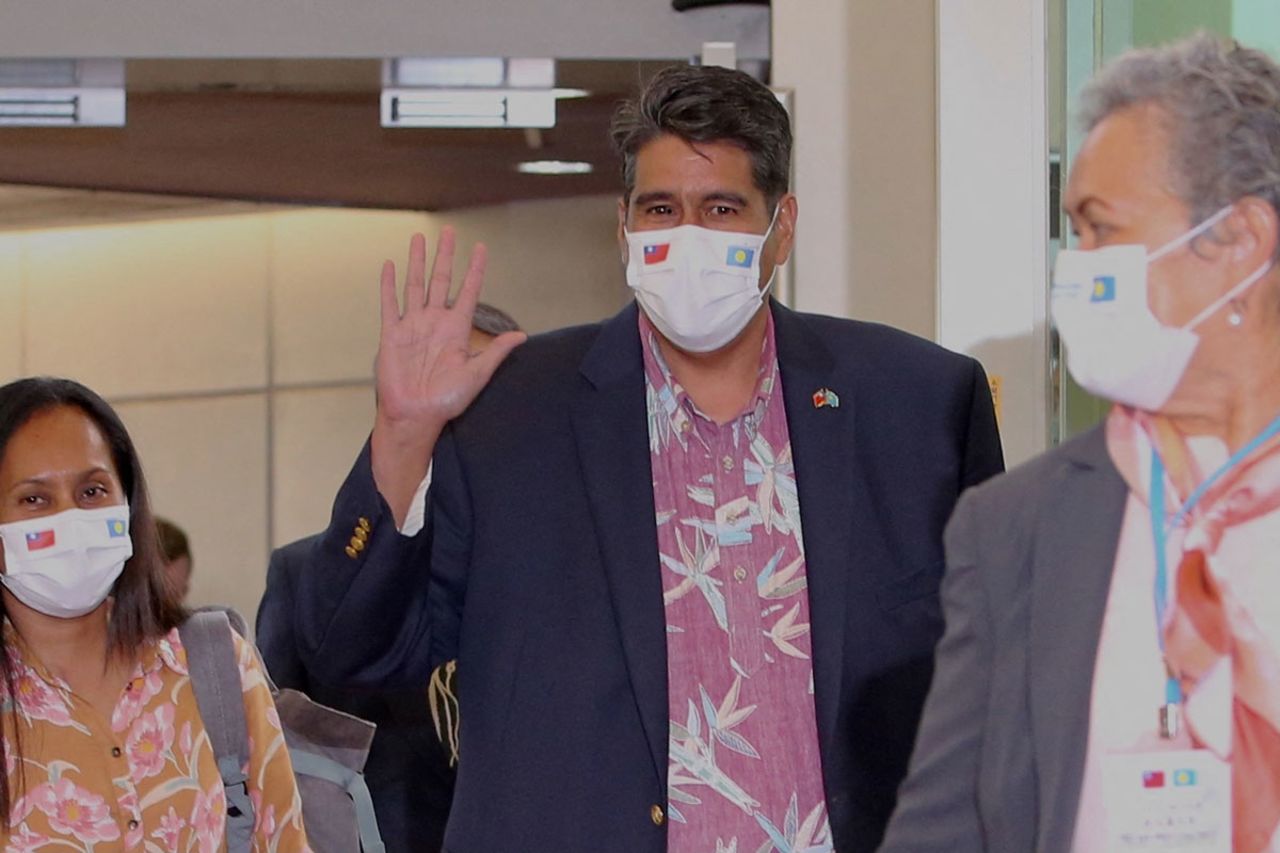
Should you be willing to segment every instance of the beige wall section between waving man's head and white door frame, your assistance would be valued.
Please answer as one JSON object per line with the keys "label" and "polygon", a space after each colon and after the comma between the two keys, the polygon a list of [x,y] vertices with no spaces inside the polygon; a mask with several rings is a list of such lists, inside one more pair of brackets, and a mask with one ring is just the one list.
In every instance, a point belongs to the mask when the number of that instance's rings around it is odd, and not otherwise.
{"label": "beige wall section between waving man's head and white door frame", "polygon": [[801,310],[936,332],[934,0],[774,0]]}

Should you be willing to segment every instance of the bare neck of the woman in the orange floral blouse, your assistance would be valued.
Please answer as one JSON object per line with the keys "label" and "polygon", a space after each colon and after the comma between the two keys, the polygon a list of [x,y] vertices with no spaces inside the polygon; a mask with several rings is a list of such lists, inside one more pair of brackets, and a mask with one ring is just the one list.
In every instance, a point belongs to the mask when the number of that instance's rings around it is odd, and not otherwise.
{"label": "bare neck of the woman in the orange floral blouse", "polygon": [[74,619],[47,616],[4,589],[4,607],[14,630],[54,675],[74,684],[86,672],[111,663],[108,646],[110,602]]}

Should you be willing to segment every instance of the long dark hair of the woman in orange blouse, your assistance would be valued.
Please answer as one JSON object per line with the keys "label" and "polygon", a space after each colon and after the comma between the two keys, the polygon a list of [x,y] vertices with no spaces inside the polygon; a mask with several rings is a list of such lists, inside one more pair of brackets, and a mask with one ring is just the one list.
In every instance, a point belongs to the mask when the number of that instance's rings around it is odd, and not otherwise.
{"label": "long dark hair of the woman in orange blouse", "polygon": [[[165,583],[146,479],[142,476],[142,465],[138,462],[133,441],[120,418],[105,400],[70,379],[38,377],[12,382],[0,387],[0,460],[4,459],[14,433],[36,415],[59,406],[79,409],[97,426],[111,451],[111,462],[129,502],[129,538],[133,540],[133,556],[124,564],[124,570],[111,589],[115,605],[108,621],[108,644],[114,653],[132,654],[148,640],[163,637],[179,625],[186,617],[186,611]],[[8,619],[3,597],[0,597],[0,615]],[[6,722],[13,725],[5,725],[5,729],[10,729],[14,734],[13,745],[20,767],[22,747],[18,743],[19,727],[15,717],[17,672],[9,661],[4,631],[0,631],[0,676],[4,678],[12,703],[5,716],[9,717]],[[0,766],[4,766],[4,742],[0,740]],[[22,775],[18,777],[20,780]],[[9,780],[0,776],[0,815],[4,817],[5,827],[9,826],[12,804],[13,792],[9,790]]]}

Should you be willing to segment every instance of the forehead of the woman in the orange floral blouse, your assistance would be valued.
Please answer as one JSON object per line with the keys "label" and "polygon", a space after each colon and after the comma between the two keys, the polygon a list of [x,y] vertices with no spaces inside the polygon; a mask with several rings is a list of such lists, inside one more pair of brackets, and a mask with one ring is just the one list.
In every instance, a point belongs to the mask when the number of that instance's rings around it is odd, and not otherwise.
{"label": "forehead of the woman in the orange floral blouse", "polygon": [[116,473],[102,432],[82,410],[54,406],[36,412],[10,437],[0,456],[0,484],[91,467]]}

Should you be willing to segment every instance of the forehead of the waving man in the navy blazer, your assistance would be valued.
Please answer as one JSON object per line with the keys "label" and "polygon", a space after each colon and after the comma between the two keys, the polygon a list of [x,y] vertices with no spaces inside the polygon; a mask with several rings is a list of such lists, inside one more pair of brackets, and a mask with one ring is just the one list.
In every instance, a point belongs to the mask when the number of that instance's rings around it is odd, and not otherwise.
{"label": "forehead of the waving man in the navy blazer", "polygon": [[751,169],[751,155],[733,142],[687,142],[663,134],[636,152],[636,191],[689,192],[732,188],[759,192]]}

